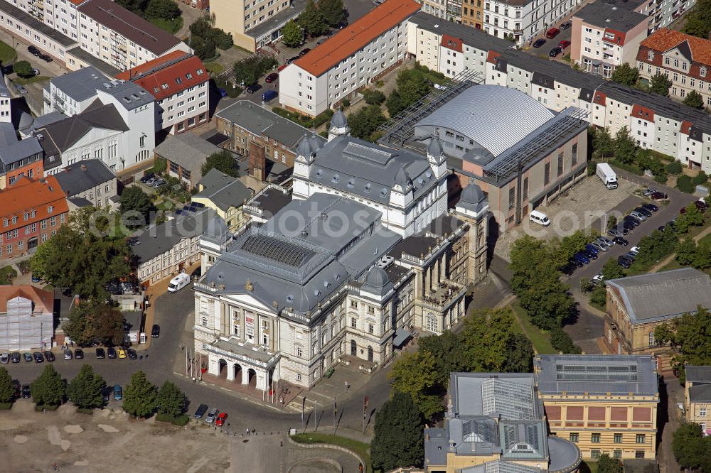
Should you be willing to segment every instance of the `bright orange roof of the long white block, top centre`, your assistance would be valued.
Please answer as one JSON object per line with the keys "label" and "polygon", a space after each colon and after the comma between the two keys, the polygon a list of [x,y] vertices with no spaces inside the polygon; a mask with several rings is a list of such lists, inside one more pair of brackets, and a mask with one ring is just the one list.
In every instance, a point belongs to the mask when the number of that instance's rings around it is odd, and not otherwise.
{"label": "bright orange roof of the long white block, top centre", "polygon": [[346,26],[324,43],[309,51],[294,64],[309,74],[319,75],[330,70],[338,62],[351,57],[378,36],[405,21],[419,10],[414,0],[386,0],[380,6],[365,13],[358,21]]}

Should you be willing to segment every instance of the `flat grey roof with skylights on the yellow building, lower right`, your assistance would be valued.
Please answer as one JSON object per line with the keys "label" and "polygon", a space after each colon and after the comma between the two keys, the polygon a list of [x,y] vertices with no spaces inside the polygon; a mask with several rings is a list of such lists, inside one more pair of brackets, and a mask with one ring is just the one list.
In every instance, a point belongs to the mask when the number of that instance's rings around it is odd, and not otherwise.
{"label": "flat grey roof with skylights on the yellow building, lower right", "polygon": [[534,362],[543,394],[655,396],[659,391],[649,355],[539,355]]}

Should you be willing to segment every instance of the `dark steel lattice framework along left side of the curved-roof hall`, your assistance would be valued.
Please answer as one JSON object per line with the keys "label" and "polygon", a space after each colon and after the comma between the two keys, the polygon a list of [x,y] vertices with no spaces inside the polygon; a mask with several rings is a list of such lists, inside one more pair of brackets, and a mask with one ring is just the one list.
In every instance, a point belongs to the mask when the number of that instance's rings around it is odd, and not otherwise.
{"label": "dark steel lattice framework along left side of the curved-roof hall", "polygon": [[378,131],[383,133],[383,138],[380,138],[380,141],[385,144],[396,143],[403,146],[405,141],[415,135],[415,124],[418,121],[454,99],[465,89],[481,84],[481,82],[483,82],[483,77],[479,72],[471,69],[459,72],[439,88],[432,89],[432,92],[378,127]]}

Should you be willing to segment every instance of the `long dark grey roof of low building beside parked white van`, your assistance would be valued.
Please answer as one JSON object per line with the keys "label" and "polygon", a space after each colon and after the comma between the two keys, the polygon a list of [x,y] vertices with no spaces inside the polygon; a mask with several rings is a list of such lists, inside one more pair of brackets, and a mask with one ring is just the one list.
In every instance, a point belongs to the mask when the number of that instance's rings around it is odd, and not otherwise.
{"label": "long dark grey roof of low building beside parked white van", "polygon": [[203,234],[215,211],[205,208],[200,212],[181,214],[159,225],[151,225],[133,234],[130,247],[137,256],[138,263],[151,261],[164,254],[182,239],[190,239]]}

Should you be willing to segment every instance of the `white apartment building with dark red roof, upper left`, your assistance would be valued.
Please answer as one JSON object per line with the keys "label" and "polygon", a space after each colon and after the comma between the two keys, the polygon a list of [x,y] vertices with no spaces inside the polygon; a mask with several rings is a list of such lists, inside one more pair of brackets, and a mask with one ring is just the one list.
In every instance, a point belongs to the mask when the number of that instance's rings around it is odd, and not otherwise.
{"label": "white apartment building with dark red roof, upper left", "polygon": [[210,75],[198,56],[176,50],[121,72],[156,98],[156,131],[179,134],[210,119]]}

